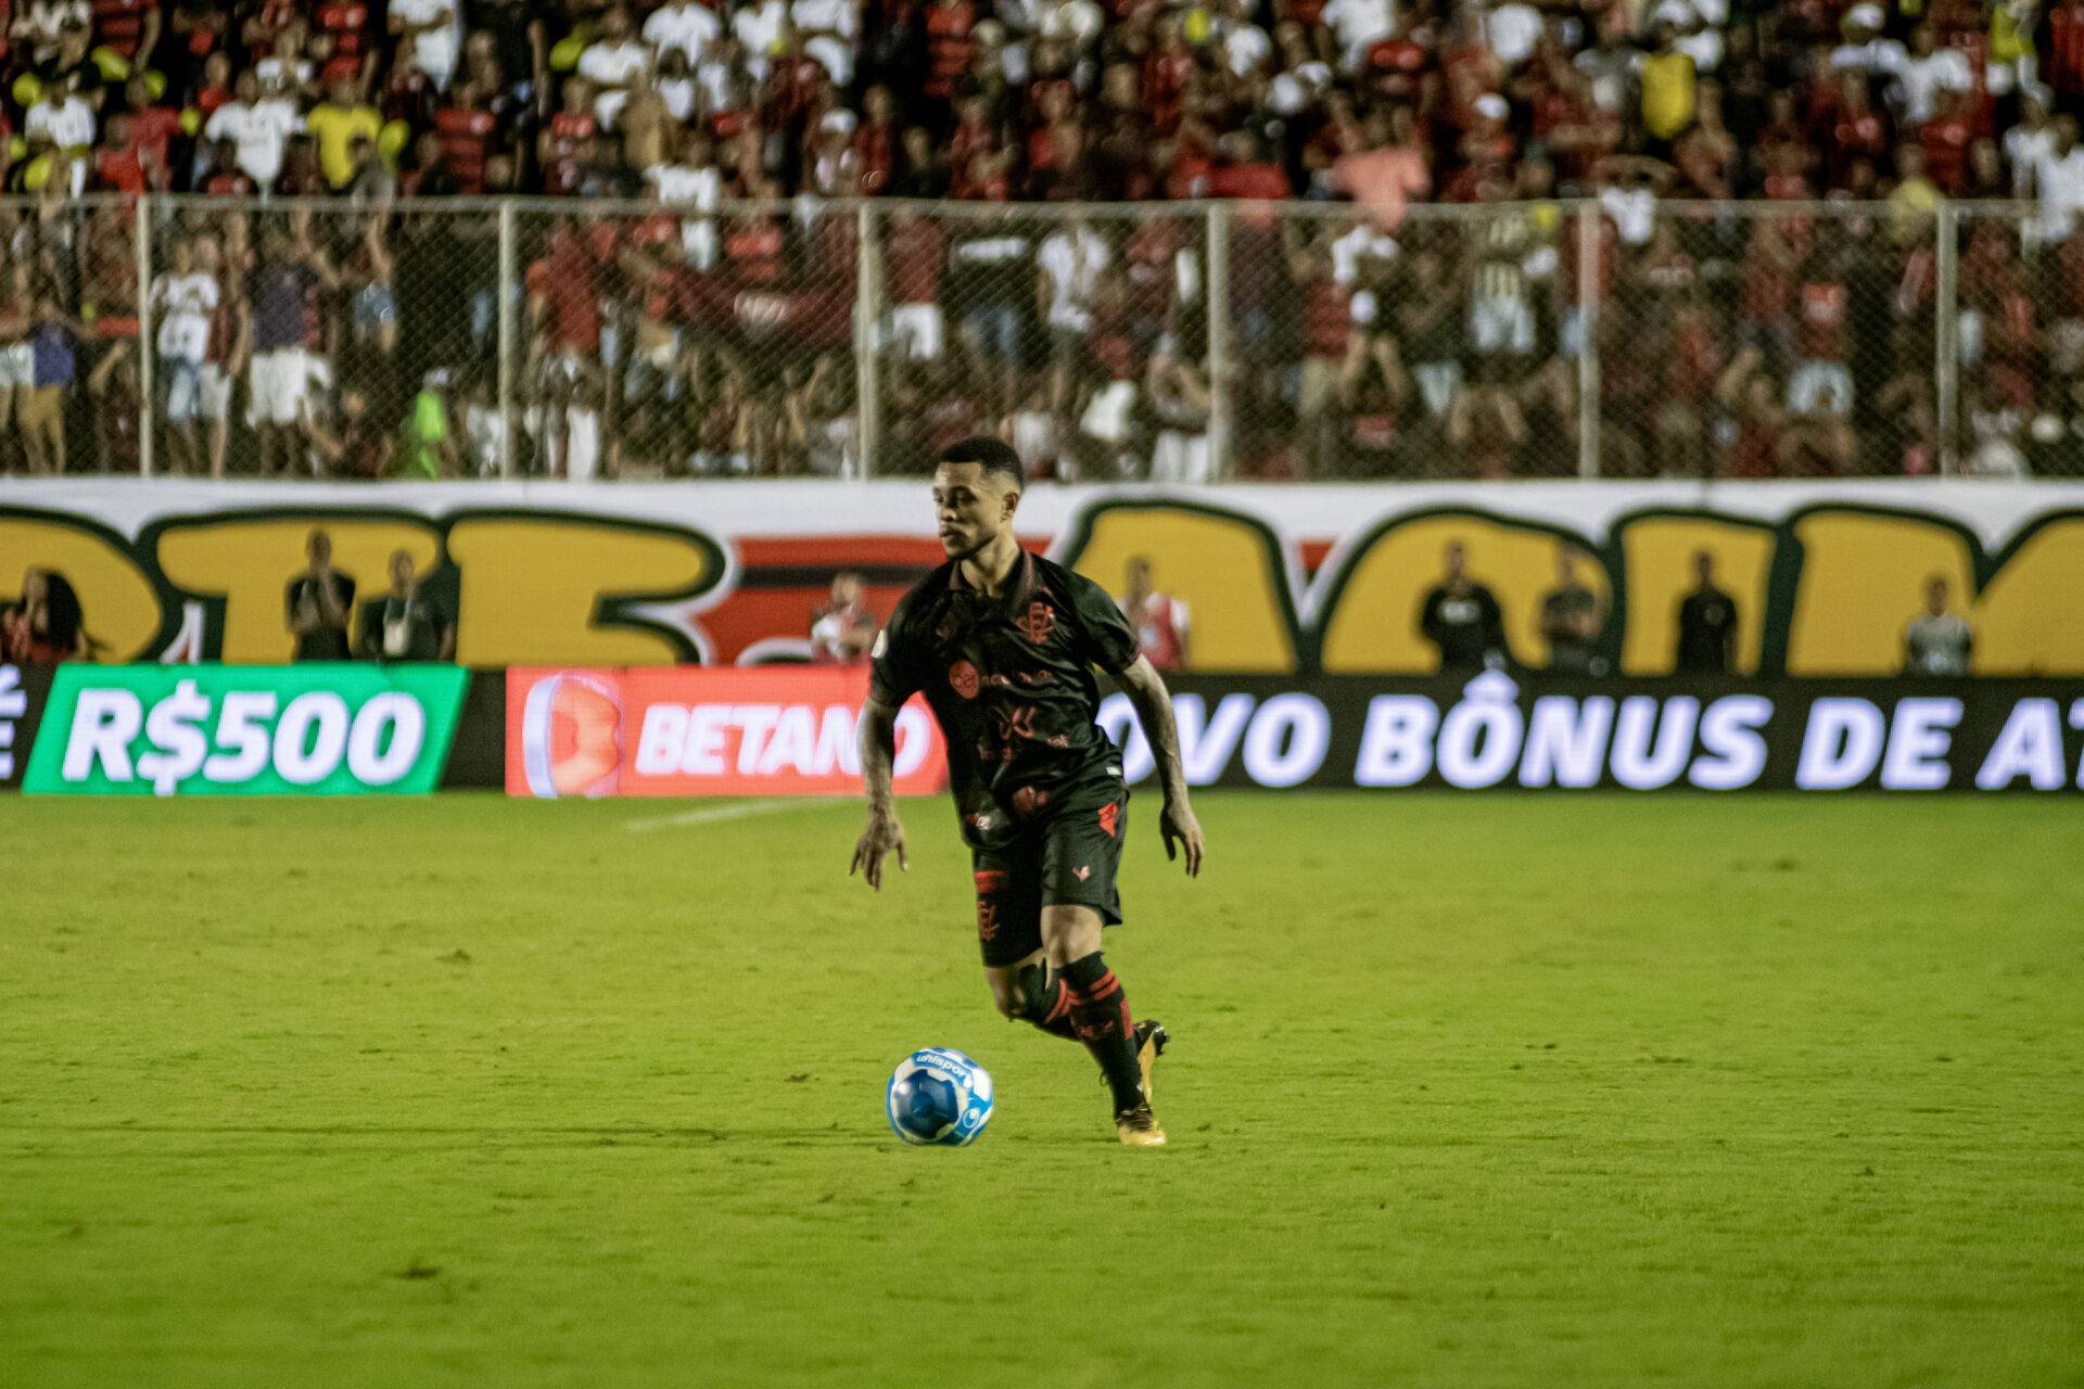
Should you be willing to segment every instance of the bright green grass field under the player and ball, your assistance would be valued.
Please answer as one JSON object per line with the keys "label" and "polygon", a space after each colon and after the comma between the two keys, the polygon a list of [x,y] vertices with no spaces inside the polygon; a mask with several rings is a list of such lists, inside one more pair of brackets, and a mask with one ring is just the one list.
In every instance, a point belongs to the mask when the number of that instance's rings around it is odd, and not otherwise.
{"label": "bright green grass field under the player and ball", "polygon": [[0,1383],[2084,1383],[2084,806],[1152,810],[1130,1152],[942,802],[4,800]]}

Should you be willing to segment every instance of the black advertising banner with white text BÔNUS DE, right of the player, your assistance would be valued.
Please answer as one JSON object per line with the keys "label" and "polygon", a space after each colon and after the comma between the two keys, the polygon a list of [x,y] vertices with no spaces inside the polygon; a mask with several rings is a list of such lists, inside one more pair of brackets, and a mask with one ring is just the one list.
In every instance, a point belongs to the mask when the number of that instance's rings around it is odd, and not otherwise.
{"label": "black advertising banner with white text B\u00d4NUS DE, right of the player", "polygon": [[[2078,791],[2080,681],[1375,681],[1180,677],[1192,785]],[[1150,777],[1125,696],[1100,725]]]}

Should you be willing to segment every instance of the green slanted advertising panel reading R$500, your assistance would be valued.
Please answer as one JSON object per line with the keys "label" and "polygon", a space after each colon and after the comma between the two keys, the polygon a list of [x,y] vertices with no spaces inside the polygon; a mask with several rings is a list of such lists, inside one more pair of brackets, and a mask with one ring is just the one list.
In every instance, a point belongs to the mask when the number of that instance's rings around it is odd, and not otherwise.
{"label": "green slanted advertising panel reading R$500", "polygon": [[456,666],[58,666],[31,795],[423,795]]}

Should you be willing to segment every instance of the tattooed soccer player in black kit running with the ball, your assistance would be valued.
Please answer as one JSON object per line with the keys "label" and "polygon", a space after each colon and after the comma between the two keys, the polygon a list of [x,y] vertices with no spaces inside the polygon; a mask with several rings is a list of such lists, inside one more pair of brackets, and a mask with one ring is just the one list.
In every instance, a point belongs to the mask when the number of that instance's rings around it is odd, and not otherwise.
{"label": "tattooed soccer player in black kit running with the ball", "polygon": [[1150,1114],[1150,1066],[1165,1029],[1132,1022],[1121,981],[1100,958],[1100,927],[1121,920],[1115,868],[1127,833],[1121,754],[1094,721],[1092,668],[1111,673],[1144,725],[1165,785],[1165,856],[1200,875],[1202,837],[1188,806],[1171,698],[1136,648],[1107,589],[1013,539],[1021,460],[973,437],[934,471],[948,562],[919,581],[875,639],[861,710],[869,827],[854,864],[882,889],[884,856],[904,856],[890,800],[898,706],[923,691],[948,739],[948,783],[977,887],[977,937],[998,1012],[1075,1037],[1100,1064],[1115,1135],[1165,1141]]}

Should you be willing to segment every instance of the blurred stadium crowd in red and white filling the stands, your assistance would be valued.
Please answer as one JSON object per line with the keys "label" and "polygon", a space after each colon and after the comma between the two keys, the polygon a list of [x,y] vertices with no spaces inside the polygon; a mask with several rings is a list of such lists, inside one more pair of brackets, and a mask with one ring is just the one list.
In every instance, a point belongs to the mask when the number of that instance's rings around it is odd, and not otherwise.
{"label": "blurred stadium crowd in red and white filling the stands", "polygon": [[[1040,475],[1194,481],[1217,398],[1244,477],[1576,473],[1596,300],[1603,473],[1919,475],[1944,198],[2021,200],[1961,221],[1953,444],[2084,471],[2084,0],[0,17],[8,471],[138,466],[135,208],[73,198],[140,192],[242,198],[148,235],[179,473],[852,473],[867,225],[884,473],[996,427]],[[513,439],[500,212],[419,202],[504,194],[542,198]],[[1111,206],[1198,198],[1246,204],[1221,381],[1202,219]]]}

